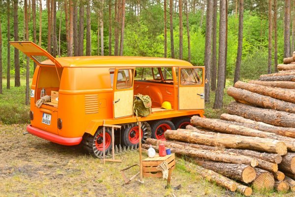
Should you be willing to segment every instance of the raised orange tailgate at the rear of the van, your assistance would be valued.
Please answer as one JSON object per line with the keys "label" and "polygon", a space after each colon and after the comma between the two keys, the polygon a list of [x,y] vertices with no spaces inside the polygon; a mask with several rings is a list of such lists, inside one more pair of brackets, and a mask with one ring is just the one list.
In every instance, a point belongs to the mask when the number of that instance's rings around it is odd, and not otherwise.
{"label": "raised orange tailgate at the rear of the van", "polygon": [[22,51],[37,65],[62,67],[52,55],[31,41],[14,41],[9,42],[9,44]]}

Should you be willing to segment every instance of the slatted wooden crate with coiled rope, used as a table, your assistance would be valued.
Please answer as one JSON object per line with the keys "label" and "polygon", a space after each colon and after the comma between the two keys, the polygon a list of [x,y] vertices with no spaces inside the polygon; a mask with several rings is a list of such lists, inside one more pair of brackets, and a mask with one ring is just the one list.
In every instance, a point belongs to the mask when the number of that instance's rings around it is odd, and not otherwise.
{"label": "slatted wooden crate with coiled rope, used as a table", "polygon": [[175,168],[175,154],[166,155],[165,157],[160,157],[156,154],[154,158],[147,158],[143,160],[143,176],[144,177],[162,177],[163,174],[160,170],[157,170],[157,166],[163,162],[168,163],[168,167]]}

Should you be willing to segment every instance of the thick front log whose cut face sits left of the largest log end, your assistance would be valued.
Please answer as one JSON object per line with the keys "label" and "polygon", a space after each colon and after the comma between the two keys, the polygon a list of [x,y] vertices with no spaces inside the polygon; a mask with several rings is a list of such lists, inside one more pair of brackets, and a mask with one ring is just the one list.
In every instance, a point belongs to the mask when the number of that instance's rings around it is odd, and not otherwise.
{"label": "thick front log whose cut face sits left of the largest log end", "polygon": [[256,178],[256,172],[253,167],[245,164],[227,164],[221,162],[213,162],[194,158],[194,163],[201,165],[207,169],[213,170],[223,176],[236,179],[244,183],[250,183]]}

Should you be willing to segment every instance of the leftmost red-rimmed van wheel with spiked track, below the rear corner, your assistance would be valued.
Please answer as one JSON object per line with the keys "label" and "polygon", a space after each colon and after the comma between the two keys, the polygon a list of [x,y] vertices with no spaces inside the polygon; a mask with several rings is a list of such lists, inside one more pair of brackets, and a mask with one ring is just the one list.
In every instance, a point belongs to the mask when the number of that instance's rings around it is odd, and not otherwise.
{"label": "leftmost red-rimmed van wheel with spiked track, below the rear corner", "polygon": [[[105,134],[106,154],[112,150],[112,132],[106,128]],[[101,158],[103,155],[103,130],[97,130],[93,135],[87,134],[83,137],[83,145],[94,157]]]}

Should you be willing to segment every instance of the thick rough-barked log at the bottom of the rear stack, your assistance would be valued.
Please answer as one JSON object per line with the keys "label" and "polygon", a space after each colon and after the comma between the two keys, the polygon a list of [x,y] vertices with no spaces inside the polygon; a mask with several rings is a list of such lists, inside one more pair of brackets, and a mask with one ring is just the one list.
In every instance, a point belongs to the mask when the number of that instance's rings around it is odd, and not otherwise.
{"label": "thick rough-barked log at the bottom of the rear stack", "polygon": [[264,122],[278,127],[295,128],[295,114],[284,111],[263,109],[237,102],[231,102],[227,106],[229,114],[242,116],[247,119]]}

